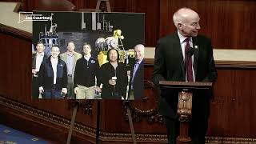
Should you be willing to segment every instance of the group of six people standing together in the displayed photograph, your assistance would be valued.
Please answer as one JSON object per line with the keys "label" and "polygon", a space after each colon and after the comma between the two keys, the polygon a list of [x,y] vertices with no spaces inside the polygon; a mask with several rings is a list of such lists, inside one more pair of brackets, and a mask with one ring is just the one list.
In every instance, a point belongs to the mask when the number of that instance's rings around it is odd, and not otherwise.
{"label": "group of six people standing together in the displayed photograph", "polygon": [[128,94],[129,99],[134,99],[143,95],[142,44],[134,46],[136,61],[131,66],[118,62],[119,53],[114,48],[107,51],[108,62],[99,66],[98,58],[90,54],[88,43],[82,47],[82,54],[74,51],[74,42],[68,42],[67,51],[62,54],[58,46],[53,46],[48,58],[42,42],[38,42],[36,49],[32,66],[33,98],[41,95],[42,98],[126,99]]}

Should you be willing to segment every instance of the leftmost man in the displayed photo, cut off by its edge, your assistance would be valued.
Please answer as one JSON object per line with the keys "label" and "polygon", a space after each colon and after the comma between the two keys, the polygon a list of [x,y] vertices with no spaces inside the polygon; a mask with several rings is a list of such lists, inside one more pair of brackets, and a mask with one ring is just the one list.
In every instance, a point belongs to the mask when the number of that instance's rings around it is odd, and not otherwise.
{"label": "leftmost man in the displayed photo, cut off by its edge", "polygon": [[[32,50],[34,47],[32,46]],[[41,66],[41,63],[44,59],[46,59],[46,55],[44,53],[45,46],[42,42],[38,42],[36,49],[34,52],[32,51],[32,98],[38,98],[38,72]]]}

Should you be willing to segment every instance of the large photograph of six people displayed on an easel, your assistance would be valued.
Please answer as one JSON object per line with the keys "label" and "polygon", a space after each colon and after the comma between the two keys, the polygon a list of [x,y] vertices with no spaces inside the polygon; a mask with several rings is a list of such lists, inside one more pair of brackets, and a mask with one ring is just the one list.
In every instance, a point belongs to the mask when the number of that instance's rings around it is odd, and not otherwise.
{"label": "large photograph of six people displayed on an easel", "polygon": [[[34,14],[38,17],[33,21],[32,98],[142,97],[144,61],[135,70],[134,66],[144,58],[145,14]],[[142,54],[134,47],[142,47]],[[133,88],[137,81],[139,93]]]}

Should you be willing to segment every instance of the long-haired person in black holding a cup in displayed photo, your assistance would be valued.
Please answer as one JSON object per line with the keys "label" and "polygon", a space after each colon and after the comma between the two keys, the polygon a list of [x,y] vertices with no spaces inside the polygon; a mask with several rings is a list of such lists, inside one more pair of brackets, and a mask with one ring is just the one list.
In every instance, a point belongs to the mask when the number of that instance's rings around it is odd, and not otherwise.
{"label": "long-haired person in black holding a cup in displayed photo", "polygon": [[118,50],[107,51],[107,60],[99,71],[99,80],[102,83],[102,98],[121,99],[126,98],[128,77],[126,66],[118,62]]}

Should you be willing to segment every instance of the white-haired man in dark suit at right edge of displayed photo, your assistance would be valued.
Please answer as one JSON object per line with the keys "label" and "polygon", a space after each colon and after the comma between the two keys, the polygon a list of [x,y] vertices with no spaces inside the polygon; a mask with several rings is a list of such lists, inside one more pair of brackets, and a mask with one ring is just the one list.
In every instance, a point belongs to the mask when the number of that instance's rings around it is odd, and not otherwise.
{"label": "white-haired man in dark suit at right edge of displayed photo", "polygon": [[135,62],[130,69],[130,100],[142,98],[144,94],[144,50],[142,44],[134,46]]}

